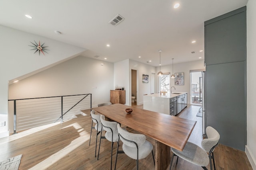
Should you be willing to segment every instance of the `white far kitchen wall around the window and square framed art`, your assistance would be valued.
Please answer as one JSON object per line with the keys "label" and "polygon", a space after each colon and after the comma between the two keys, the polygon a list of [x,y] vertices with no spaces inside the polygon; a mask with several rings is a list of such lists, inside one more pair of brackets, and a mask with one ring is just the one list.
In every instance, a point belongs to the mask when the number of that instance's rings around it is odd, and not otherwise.
{"label": "white far kitchen wall around the window and square framed art", "polygon": [[[187,63],[177,63],[173,66],[173,73],[184,72],[184,85],[174,85],[174,79],[170,78],[170,86],[176,88],[176,92],[188,92],[188,104],[190,104],[190,70],[204,69],[204,60],[192,61]],[[172,74],[172,65],[161,66],[162,72],[170,72]],[[156,73],[159,67],[156,68]],[[156,77],[156,91],[159,91],[159,77]]]}

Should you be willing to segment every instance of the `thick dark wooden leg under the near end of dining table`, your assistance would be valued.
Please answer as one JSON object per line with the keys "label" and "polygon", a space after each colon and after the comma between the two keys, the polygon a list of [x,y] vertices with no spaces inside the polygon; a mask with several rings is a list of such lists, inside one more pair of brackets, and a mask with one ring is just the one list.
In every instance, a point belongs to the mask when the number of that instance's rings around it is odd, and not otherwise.
{"label": "thick dark wooden leg under the near end of dining table", "polygon": [[156,170],[166,170],[171,160],[171,148],[161,142],[156,141]]}

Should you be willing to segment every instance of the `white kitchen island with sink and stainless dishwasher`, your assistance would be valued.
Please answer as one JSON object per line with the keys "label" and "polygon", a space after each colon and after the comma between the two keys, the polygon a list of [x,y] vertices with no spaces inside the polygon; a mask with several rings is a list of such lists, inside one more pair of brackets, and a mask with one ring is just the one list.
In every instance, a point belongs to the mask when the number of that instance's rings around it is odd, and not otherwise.
{"label": "white kitchen island with sink and stainless dishwasher", "polygon": [[177,115],[187,106],[187,92],[156,93],[143,96],[143,109]]}

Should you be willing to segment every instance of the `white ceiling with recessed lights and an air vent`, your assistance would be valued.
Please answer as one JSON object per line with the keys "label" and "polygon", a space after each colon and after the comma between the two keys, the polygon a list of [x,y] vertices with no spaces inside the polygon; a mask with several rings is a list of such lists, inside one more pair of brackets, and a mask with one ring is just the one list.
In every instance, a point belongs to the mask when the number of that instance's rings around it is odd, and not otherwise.
{"label": "white ceiling with recessed lights and an air vent", "polygon": [[[180,7],[174,9],[174,4]],[[204,21],[248,0],[1,0],[0,25],[88,49],[85,57],[152,66],[204,59]],[[29,14],[32,19],[24,15]],[[113,26],[117,14],[125,18]],[[56,35],[54,31],[60,31]],[[191,43],[193,40],[196,43]],[[106,47],[110,44],[110,47]],[[192,54],[192,51],[196,51]],[[141,58],[138,58],[141,56]],[[94,58],[96,59],[96,58]]]}

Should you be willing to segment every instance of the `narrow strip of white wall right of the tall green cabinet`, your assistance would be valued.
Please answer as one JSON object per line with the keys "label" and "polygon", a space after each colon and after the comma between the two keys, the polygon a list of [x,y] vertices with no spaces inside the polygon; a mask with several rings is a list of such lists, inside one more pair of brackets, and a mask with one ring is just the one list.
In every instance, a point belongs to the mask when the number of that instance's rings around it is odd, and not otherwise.
{"label": "narrow strip of white wall right of the tall green cabinet", "polygon": [[256,1],[247,4],[247,145],[246,154],[256,170]]}

